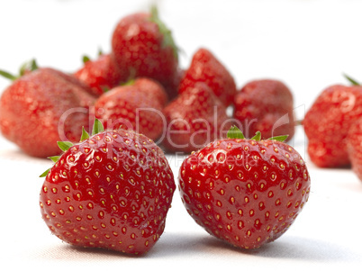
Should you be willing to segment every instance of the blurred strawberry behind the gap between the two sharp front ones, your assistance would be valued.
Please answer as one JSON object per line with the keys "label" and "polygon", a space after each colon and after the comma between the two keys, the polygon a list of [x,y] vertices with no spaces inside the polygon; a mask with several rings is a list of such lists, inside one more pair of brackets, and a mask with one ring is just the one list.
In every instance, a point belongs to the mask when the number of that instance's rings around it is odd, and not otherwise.
{"label": "blurred strawberry behind the gap between the two sharp front ones", "polygon": [[225,106],[204,83],[187,87],[163,113],[167,121],[163,144],[169,151],[199,149],[231,127]]}

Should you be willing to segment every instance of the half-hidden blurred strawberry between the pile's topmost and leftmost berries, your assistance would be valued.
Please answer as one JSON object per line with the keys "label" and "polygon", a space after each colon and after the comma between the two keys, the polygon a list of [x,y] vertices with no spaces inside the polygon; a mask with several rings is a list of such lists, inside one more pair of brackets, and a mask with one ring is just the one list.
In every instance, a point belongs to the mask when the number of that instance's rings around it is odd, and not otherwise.
{"label": "half-hidden blurred strawberry between the pile's topmost and leftmost berries", "polygon": [[112,54],[103,54],[98,59],[86,61],[74,76],[91,87],[93,94],[97,96],[103,95],[105,91],[127,79],[122,76]]}

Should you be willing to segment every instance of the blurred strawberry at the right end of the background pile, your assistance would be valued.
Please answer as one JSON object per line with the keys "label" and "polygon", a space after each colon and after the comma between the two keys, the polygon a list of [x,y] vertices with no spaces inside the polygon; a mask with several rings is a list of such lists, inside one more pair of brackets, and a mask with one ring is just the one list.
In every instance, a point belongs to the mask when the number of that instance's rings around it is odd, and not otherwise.
{"label": "blurred strawberry at the right end of the background pile", "polygon": [[[260,131],[262,139],[288,135],[290,140],[294,136],[293,105],[293,95],[283,82],[253,80],[235,95],[234,118],[242,125],[240,127],[247,138]],[[281,122],[282,117],[286,123]]]}

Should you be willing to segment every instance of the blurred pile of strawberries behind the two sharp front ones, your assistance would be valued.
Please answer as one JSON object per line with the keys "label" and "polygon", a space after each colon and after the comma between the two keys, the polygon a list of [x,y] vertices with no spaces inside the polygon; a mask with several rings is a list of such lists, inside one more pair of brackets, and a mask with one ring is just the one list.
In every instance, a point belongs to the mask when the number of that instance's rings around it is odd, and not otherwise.
{"label": "blurred pile of strawberries behind the two sharp front ones", "polygon": [[59,154],[59,140],[77,142],[95,118],[109,130],[142,133],[168,152],[190,153],[224,137],[232,124],[247,137],[261,131],[265,139],[292,138],[293,96],[283,83],[256,80],[238,92],[210,50],[196,50],[186,69],[177,53],[156,9],[128,15],[115,26],[112,51],[85,58],[73,74],[34,63],[19,77],[2,72],[14,83],[1,96],[0,130],[41,158]]}

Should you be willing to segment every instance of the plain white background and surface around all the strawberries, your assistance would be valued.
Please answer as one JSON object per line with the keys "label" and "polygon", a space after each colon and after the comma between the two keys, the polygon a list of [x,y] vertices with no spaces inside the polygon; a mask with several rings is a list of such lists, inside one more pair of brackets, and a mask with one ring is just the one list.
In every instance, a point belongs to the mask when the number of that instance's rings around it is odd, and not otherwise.
{"label": "plain white background and surface around all the strawberries", "polygon": [[[284,81],[301,119],[325,87],[347,84],[342,73],[362,81],[362,1],[347,0],[0,0],[0,69],[16,72],[35,58],[41,67],[75,71],[84,54],[95,58],[99,48],[110,50],[113,28],[122,16],[146,11],[153,3],[183,50],[183,68],[195,50],[208,48],[229,68],[238,88],[257,78]],[[0,92],[9,84],[0,78]],[[176,191],[156,246],[144,257],[128,257],[74,248],[51,236],[38,203],[43,181],[38,176],[50,161],[27,157],[0,136],[1,266],[357,269],[362,264],[362,182],[349,168],[313,166],[301,128],[291,144],[307,162],[312,191],[280,239],[258,250],[231,248],[195,224]],[[168,158],[178,176],[183,158]]]}

